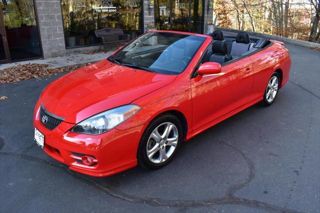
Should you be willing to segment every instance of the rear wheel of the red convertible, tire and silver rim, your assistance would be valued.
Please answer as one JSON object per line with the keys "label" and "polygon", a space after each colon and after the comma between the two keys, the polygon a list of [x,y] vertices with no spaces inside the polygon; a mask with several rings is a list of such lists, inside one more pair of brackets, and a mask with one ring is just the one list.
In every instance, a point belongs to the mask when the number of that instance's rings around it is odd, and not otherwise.
{"label": "rear wheel of the red convertible, tire and silver rim", "polygon": [[[273,72],[263,94],[262,104],[264,106],[271,105],[279,91],[280,76],[277,72]],[[270,93],[269,93],[270,92]]]}

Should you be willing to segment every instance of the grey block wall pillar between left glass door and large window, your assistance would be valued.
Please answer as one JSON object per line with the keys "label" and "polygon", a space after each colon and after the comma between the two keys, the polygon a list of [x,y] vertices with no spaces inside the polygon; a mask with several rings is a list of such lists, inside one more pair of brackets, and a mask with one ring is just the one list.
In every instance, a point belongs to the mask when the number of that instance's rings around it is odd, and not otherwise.
{"label": "grey block wall pillar between left glass door and large window", "polygon": [[43,57],[66,54],[60,0],[35,0]]}

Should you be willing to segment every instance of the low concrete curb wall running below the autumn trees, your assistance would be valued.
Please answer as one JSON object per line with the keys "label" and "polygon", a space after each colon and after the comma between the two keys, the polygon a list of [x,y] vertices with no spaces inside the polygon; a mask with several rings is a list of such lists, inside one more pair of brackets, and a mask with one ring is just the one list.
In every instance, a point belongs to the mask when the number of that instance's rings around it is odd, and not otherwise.
{"label": "low concrete curb wall running below the autumn trees", "polygon": [[261,32],[251,32],[251,31],[243,31],[243,30],[238,30],[238,29],[229,29],[229,28],[223,28],[223,27],[214,27],[214,29],[220,29],[224,31],[230,31],[230,32],[247,32],[251,35],[259,36],[259,37],[266,37],[270,38],[273,40],[278,40],[286,43],[291,43],[299,46],[304,46],[304,47],[309,47],[309,48],[320,48],[320,43],[313,43],[305,40],[297,40],[293,38],[287,38],[287,37],[282,37],[282,36],[277,36],[277,35],[270,35],[270,34],[265,34]]}

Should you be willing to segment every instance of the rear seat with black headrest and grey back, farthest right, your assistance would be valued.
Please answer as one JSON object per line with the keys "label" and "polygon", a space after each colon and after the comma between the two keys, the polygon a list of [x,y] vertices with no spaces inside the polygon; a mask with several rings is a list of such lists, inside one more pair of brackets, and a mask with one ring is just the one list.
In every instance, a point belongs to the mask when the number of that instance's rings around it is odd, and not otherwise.
{"label": "rear seat with black headrest and grey back, farthest right", "polygon": [[243,52],[250,50],[253,47],[253,43],[250,43],[249,34],[246,32],[239,32],[236,35],[235,41],[231,46],[230,54],[232,58],[240,57]]}

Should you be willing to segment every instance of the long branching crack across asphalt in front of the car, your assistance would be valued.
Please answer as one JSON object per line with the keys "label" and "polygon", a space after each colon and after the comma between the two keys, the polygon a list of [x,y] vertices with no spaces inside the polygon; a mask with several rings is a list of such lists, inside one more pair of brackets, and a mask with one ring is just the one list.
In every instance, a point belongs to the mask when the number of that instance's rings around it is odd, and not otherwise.
{"label": "long branching crack across asphalt in front of the car", "polygon": [[234,204],[234,205],[245,205],[247,207],[266,210],[268,212],[299,212],[293,209],[284,208],[284,207],[272,205],[272,204],[257,201],[257,200],[251,200],[251,199],[233,196],[233,193],[235,191],[246,186],[251,181],[251,179],[254,176],[254,165],[252,161],[244,154],[244,152],[234,147],[231,143],[225,143],[225,144],[232,147],[243,156],[243,158],[245,159],[245,161],[248,163],[248,166],[249,166],[249,175],[248,175],[248,178],[243,181],[243,183],[234,184],[230,186],[228,190],[228,194],[226,196],[207,199],[207,200],[170,200],[170,199],[155,198],[155,197],[134,196],[131,194],[124,193],[120,190],[114,190],[112,187],[104,186],[103,184],[101,184],[101,182],[97,181],[98,178],[96,177],[89,177],[77,172],[72,172],[70,169],[68,169],[68,166],[64,164],[56,163],[54,161],[35,157],[35,156],[19,154],[15,152],[0,152],[0,154],[15,156],[21,159],[30,160],[33,162],[45,163],[45,164],[57,167],[59,169],[62,169],[64,172],[70,174],[75,179],[78,179],[88,185],[91,185],[112,197],[115,197],[124,201],[128,201],[128,202],[148,204],[150,206],[167,206],[167,207],[178,207],[178,208]]}

